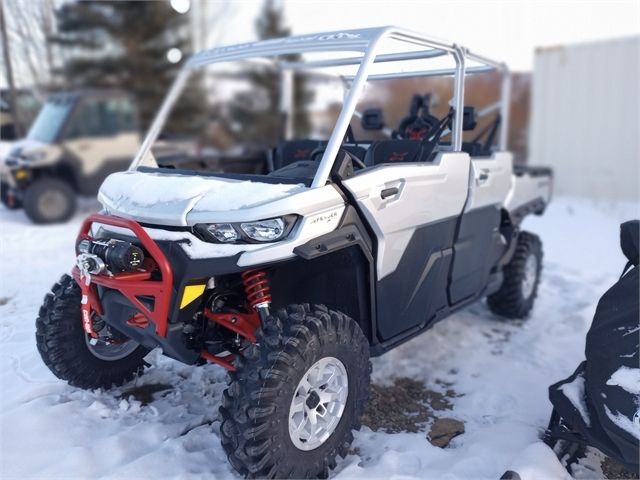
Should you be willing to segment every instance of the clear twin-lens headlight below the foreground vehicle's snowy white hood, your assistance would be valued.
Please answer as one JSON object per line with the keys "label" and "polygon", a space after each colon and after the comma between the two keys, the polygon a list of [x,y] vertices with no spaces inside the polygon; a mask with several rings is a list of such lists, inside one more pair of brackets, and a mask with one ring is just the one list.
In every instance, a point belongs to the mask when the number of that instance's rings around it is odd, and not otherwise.
{"label": "clear twin-lens headlight below the foreground vehicle's snowy white hood", "polygon": [[200,224],[195,226],[195,231],[205,240],[216,243],[276,242],[291,233],[296,219],[296,215],[285,215],[255,222]]}

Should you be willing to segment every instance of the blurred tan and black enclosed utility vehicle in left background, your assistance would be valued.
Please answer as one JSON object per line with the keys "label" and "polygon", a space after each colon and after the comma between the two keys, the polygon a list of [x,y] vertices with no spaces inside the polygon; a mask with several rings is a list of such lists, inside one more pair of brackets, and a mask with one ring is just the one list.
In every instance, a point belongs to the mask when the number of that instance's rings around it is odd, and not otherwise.
{"label": "blurred tan and black enclosed utility vehicle in left background", "polygon": [[118,91],[51,95],[0,166],[2,203],[23,207],[34,223],[68,220],[77,195],[95,195],[109,174],[131,163],[140,146],[136,111]]}

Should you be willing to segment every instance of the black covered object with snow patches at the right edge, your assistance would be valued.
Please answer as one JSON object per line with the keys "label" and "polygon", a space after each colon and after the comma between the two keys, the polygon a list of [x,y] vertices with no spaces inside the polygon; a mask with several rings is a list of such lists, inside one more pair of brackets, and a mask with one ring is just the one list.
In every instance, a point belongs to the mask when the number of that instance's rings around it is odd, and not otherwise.
{"label": "black covered object with snow patches at the right edge", "polygon": [[639,236],[638,220],[621,225],[620,244],[629,263],[598,302],[587,333],[586,360],[569,378],[549,387],[554,416],[547,433],[596,447],[635,471],[640,451],[640,385],[629,387],[627,381],[625,389],[610,379],[619,370],[631,374],[627,379],[633,378],[640,368]]}

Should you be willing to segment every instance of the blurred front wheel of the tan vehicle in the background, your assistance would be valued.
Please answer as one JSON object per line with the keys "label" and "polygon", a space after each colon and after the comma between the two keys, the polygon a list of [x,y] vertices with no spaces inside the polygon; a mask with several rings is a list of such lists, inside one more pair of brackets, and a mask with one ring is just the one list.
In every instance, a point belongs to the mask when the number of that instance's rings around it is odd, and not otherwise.
{"label": "blurred front wheel of the tan vehicle in the background", "polygon": [[40,178],[25,190],[23,204],[33,223],[66,222],[76,211],[76,194],[63,180]]}

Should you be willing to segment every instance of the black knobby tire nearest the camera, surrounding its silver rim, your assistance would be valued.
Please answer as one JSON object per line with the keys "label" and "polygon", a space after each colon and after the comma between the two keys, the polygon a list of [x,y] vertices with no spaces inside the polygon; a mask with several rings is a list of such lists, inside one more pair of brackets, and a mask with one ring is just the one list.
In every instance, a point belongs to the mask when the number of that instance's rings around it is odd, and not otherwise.
{"label": "black knobby tire nearest the camera, surrounding its silver rim", "polygon": [[[319,361],[344,366],[348,396],[333,433],[303,450],[289,433],[290,409],[294,395],[300,399],[301,380]],[[370,373],[369,343],[343,313],[323,305],[290,305],[271,315],[258,330],[257,344],[238,358],[224,392],[220,436],[230,463],[249,478],[327,477],[336,457],[347,454],[352,430],[360,428]]]}

